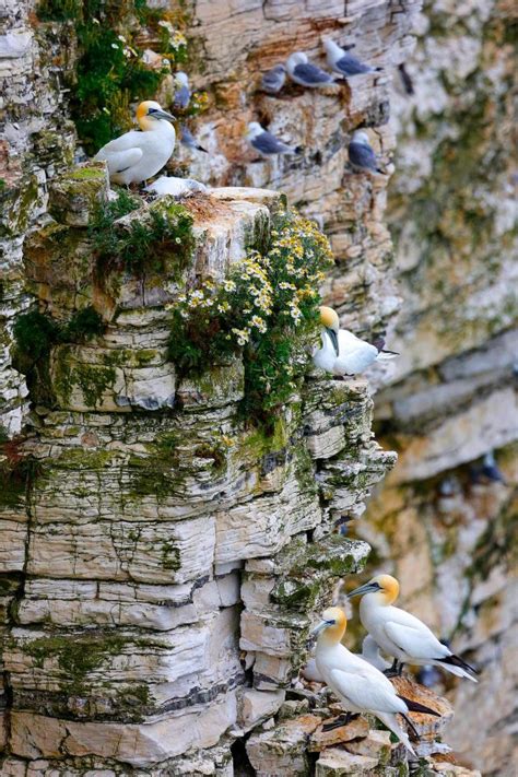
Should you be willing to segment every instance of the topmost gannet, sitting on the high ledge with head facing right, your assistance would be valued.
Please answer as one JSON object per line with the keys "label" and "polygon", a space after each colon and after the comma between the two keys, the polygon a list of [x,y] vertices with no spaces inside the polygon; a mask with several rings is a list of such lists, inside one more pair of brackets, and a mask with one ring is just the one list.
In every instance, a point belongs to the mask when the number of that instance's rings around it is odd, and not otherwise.
{"label": "topmost gannet, sitting on the high ledge with head facing right", "polygon": [[169,123],[175,117],[148,99],[137,108],[142,130],[130,130],[110,140],[94,156],[94,162],[108,163],[113,184],[129,186],[152,178],[165,165],[175,148],[176,133]]}

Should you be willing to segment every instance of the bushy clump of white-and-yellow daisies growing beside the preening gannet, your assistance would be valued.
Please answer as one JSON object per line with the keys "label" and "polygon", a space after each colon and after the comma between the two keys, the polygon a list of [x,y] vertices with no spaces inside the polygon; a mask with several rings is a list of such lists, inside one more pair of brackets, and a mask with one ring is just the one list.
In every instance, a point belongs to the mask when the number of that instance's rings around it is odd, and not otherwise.
{"label": "bushy clump of white-and-yellow daisies growing beside the preening gannet", "polygon": [[316,330],[326,237],[293,212],[279,217],[266,256],[249,251],[221,285],[207,281],[178,298],[168,356],[201,373],[243,351],[245,411],[278,410],[298,388]]}

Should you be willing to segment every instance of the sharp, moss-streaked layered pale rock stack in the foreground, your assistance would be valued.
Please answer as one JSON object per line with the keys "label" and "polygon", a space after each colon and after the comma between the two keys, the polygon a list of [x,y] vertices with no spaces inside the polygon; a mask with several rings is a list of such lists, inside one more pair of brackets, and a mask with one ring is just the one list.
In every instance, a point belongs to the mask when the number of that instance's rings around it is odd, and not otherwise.
{"label": "sharp, moss-streaked layered pale rock stack in the foreground", "polygon": [[[271,434],[239,415],[239,360],[179,379],[166,306],[189,270],[99,272],[86,223],[105,197],[98,165],[58,178],[56,219],[25,246],[40,305],[59,321],[94,304],[107,329],[55,344],[31,373],[30,488],[4,516],[3,570],[21,584],[3,650],[5,774],[63,758],[72,774],[190,774],[172,758],[200,751],[215,769],[223,751],[205,751],[224,737],[226,763],[232,739],[283,703],[313,611],[364,563],[366,543],[332,532],[393,462],[372,439],[364,380],[310,378]],[[281,208],[273,192],[214,192],[195,208],[190,272],[224,278]]]}

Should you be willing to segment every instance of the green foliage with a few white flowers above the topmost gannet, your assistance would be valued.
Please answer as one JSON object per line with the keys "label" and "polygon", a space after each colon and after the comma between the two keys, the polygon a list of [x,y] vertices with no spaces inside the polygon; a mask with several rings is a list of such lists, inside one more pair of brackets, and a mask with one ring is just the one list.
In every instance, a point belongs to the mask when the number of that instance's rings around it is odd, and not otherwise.
{"label": "green foliage with a few white flowers above the topmost gannet", "polygon": [[[173,14],[163,10],[149,9],[145,0],[42,0],[37,13],[42,21],[73,24],[80,56],[71,84],[71,109],[87,153],[128,130],[130,102],[150,99],[169,72],[167,60],[183,62],[187,56],[186,39],[174,23],[177,20],[169,21]],[[144,24],[164,57],[158,70],[145,64],[136,43]]]}

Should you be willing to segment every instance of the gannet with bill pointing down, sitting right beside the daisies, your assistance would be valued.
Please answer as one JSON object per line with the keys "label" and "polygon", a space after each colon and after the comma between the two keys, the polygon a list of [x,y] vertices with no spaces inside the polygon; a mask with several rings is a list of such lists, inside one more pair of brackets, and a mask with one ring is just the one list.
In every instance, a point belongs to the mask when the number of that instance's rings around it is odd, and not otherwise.
{"label": "gannet with bill pointing down, sitting right beside the daisies", "polygon": [[382,340],[370,344],[348,329],[340,329],[337,313],[325,305],[320,307],[320,323],[321,346],[314,353],[313,363],[327,373],[358,375],[374,362],[399,355],[396,351],[385,350]]}

